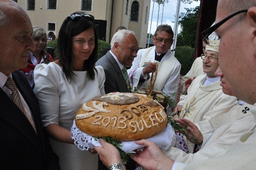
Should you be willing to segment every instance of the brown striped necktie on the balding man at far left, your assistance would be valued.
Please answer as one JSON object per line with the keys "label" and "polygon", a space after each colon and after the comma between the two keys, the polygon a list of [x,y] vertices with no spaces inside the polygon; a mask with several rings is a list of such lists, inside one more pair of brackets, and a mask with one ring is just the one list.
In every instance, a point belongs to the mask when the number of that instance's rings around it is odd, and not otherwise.
{"label": "brown striped necktie on the balding man at far left", "polygon": [[12,93],[12,100],[13,102],[19,107],[19,109],[24,113],[24,115],[28,118],[29,122],[31,123],[31,125],[33,126],[35,133],[37,133],[36,129],[35,129],[35,124],[32,120],[32,117],[30,116],[30,114],[28,113],[28,111],[26,110],[26,108],[24,107],[24,105],[22,104],[22,100],[20,98],[20,94],[19,91],[13,81],[12,78],[8,78],[6,83],[4,84],[8,89],[11,90]]}

